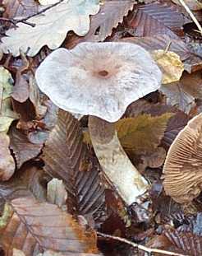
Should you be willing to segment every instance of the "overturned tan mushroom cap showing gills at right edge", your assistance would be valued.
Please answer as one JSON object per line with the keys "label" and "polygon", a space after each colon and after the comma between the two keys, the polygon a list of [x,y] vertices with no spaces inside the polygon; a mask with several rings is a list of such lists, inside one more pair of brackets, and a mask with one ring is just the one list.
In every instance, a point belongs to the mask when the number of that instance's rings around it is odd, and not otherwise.
{"label": "overturned tan mushroom cap showing gills at right edge", "polygon": [[202,190],[202,114],[191,119],[169,148],[163,166],[165,192],[188,203]]}

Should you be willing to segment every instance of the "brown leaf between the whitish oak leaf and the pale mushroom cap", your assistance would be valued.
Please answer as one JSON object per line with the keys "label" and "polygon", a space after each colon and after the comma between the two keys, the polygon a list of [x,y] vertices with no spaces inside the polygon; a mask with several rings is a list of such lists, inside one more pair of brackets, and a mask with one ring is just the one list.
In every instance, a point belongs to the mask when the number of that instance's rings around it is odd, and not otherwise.
{"label": "brown leaf between the whitish oak leaf and the pale mushroom cap", "polygon": [[105,40],[112,34],[112,29],[123,21],[123,17],[132,9],[135,0],[105,0],[101,5],[99,13],[91,16],[90,30],[84,37],[71,35],[67,40],[67,48],[73,48],[80,42],[99,42]]}

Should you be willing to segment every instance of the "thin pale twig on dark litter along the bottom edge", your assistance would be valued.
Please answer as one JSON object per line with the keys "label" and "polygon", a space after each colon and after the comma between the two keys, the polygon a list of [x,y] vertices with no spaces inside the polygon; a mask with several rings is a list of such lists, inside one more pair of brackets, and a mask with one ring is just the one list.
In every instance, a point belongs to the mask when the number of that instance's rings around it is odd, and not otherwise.
{"label": "thin pale twig on dark litter along the bottom edge", "polygon": [[141,244],[135,244],[134,242],[126,240],[125,238],[103,234],[103,233],[98,232],[98,231],[97,231],[97,234],[104,237],[104,238],[107,238],[107,239],[117,240],[117,241],[120,241],[120,242],[125,243],[125,244],[130,244],[132,247],[134,247],[136,249],[141,249],[141,250],[143,250],[143,251],[145,251],[149,254],[157,253],[157,254],[172,255],[172,256],[189,256],[188,254],[186,254],[186,255],[185,254],[177,254],[177,253],[168,252],[168,251],[163,250],[163,249],[149,248],[149,247],[146,247],[146,246],[141,245]]}

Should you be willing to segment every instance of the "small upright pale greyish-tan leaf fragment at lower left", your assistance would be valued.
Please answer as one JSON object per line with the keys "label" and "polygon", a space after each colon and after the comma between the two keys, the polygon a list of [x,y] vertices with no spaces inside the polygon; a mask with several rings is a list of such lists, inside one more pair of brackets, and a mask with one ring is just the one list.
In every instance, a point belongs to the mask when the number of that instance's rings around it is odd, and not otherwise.
{"label": "small upright pale greyish-tan leaf fragment at lower left", "polygon": [[67,191],[62,180],[54,178],[48,182],[47,199],[48,202],[56,204],[58,207],[62,207],[66,203]]}

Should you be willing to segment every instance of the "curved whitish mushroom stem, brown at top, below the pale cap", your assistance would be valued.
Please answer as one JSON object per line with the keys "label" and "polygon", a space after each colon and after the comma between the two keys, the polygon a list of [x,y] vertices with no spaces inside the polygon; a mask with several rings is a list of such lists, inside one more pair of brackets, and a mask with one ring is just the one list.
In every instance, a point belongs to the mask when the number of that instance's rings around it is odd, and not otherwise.
{"label": "curved whitish mushroom stem, brown at top, below the pale cap", "polygon": [[149,189],[149,184],[126,156],[114,123],[90,116],[89,130],[94,152],[117,193],[127,206],[140,202],[140,196]]}

